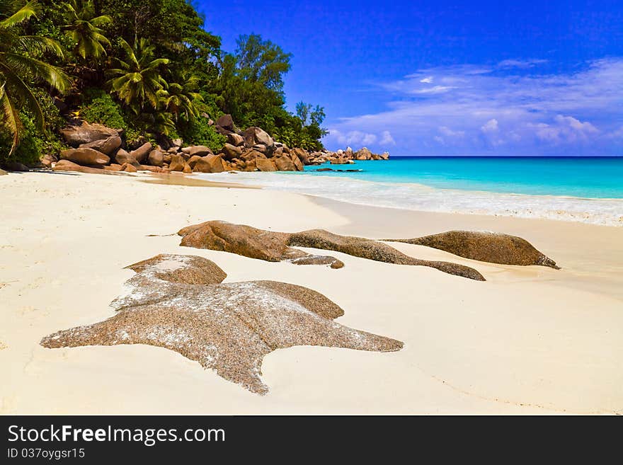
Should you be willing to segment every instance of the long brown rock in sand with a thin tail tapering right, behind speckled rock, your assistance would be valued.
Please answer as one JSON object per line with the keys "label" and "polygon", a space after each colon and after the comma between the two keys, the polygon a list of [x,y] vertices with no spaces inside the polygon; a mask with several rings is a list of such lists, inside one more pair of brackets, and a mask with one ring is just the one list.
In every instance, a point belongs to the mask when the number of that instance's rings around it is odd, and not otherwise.
{"label": "long brown rock in sand with a thin tail tapering right, behind speckled rock", "polygon": [[450,275],[484,281],[484,277],[474,268],[457,263],[419,260],[406,256],[379,241],[361,237],[340,236],[323,229],[311,229],[290,234],[265,231],[244,224],[211,221],[187,226],[178,231],[178,234],[183,236],[181,246],[209,248],[214,251],[231,252],[269,262],[290,261],[302,265],[322,263],[331,264],[331,268],[342,268],[343,263],[337,258],[310,256],[304,251],[293,248],[311,247],[347,253],[355,257],[385,263],[428,266]]}

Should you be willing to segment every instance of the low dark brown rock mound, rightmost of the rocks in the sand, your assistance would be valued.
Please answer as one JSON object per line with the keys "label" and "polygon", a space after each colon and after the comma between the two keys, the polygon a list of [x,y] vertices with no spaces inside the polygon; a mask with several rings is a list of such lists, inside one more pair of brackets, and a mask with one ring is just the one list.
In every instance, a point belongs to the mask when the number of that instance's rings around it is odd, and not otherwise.
{"label": "low dark brown rock mound, rightmost of the rocks in the sand", "polygon": [[438,248],[459,257],[502,265],[542,265],[550,268],[556,262],[537,251],[532,244],[518,236],[487,231],[447,231],[415,239],[387,239]]}

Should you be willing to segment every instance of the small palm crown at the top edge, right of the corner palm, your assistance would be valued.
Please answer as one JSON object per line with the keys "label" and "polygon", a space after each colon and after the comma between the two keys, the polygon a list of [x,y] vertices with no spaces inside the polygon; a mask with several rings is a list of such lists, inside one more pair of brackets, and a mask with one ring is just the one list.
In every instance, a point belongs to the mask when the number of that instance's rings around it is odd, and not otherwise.
{"label": "small palm crown at the top edge, right of the corner palm", "polygon": [[113,21],[110,16],[95,16],[93,0],[70,0],[64,4],[67,25],[64,30],[72,38],[74,54],[86,60],[87,57],[98,59],[106,54],[105,45],[110,45],[100,26]]}

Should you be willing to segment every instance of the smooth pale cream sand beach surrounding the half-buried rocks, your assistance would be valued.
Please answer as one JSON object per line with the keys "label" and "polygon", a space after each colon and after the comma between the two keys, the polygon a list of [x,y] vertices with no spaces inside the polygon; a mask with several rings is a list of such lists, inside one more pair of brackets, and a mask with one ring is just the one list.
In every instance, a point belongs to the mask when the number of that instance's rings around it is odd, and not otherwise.
{"label": "smooth pale cream sand beach surrounding the half-buried rocks", "polygon": [[[0,413],[623,413],[621,227],[147,179],[0,177]],[[173,233],[212,219],[379,239],[486,229],[527,239],[561,270],[391,244],[416,258],[476,268],[486,277],[477,282],[342,253],[331,253],[345,263],[333,270],[179,246]],[[276,350],[262,367],[270,392],[259,396],[164,348],[39,345],[55,331],[113,316],[109,304],[132,276],[123,268],[159,253],[209,258],[227,272],[225,282],[309,287],[341,306],[339,323],[401,340],[404,348]]]}

